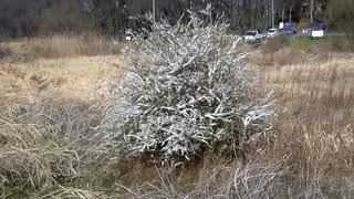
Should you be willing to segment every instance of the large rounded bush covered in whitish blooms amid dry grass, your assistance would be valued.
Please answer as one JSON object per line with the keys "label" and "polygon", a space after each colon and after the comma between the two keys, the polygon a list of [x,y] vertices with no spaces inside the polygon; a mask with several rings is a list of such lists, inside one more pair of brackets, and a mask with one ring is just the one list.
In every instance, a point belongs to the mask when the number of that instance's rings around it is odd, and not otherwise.
{"label": "large rounded bush covered in whitish blooms amid dry grass", "polygon": [[128,74],[104,122],[121,149],[190,159],[271,129],[272,101],[257,96],[259,78],[247,75],[241,39],[227,30],[191,14],[188,23],[159,22],[147,40],[137,36],[140,46],[126,51]]}

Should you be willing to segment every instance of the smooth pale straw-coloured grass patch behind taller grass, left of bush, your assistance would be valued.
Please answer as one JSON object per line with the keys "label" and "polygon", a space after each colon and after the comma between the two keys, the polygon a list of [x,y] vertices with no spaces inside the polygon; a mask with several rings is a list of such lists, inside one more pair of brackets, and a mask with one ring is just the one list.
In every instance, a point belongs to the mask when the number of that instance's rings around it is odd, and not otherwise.
{"label": "smooth pale straw-coloured grass patch behind taller grass, left of bush", "polygon": [[94,101],[105,80],[118,78],[118,70],[107,62],[121,62],[114,55],[38,59],[33,62],[1,64],[2,97],[35,97],[39,94]]}

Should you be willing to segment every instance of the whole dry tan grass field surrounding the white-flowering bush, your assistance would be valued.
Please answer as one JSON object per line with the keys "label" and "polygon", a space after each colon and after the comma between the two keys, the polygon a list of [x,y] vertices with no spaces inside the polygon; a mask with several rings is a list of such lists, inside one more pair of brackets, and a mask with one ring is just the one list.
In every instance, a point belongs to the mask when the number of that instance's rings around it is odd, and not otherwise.
{"label": "whole dry tan grass field surrounding the white-flowering bush", "polygon": [[177,169],[121,157],[95,129],[123,75],[106,61],[124,57],[70,54],[0,64],[0,198],[354,197],[353,54],[258,62],[278,111],[266,148]]}

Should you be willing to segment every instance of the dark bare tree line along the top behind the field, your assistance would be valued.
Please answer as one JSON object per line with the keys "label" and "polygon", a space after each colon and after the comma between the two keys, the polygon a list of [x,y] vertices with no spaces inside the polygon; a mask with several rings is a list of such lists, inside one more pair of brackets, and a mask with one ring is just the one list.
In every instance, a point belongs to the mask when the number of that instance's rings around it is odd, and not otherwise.
{"label": "dark bare tree line along the top behind the field", "polygon": [[[337,29],[353,25],[352,0],[155,0],[156,17],[171,23],[187,10],[212,6],[214,17],[223,14],[231,29],[266,30],[274,21],[311,19],[329,21]],[[273,3],[273,4],[272,4]],[[146,25],[153,0],[2,0],[0,35],[34,36],[61,33],[94,32],[123,35],[126,29]]]}

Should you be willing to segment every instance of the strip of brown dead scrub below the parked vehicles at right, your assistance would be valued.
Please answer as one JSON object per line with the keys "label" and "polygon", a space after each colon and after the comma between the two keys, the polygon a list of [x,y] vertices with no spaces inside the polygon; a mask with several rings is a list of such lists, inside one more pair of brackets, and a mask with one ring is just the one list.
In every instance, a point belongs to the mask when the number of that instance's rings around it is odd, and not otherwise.
{"label": "strip of brown dead scrub below the parked vehicles at right", "polygon": [[251,62],[256,65],[299,65],[319,64],[351,57],[353,54],[353,38],[327,35],[321,40],[310,36],[289,38],[280,35],[268,39],[264,45],[259,48]]}

